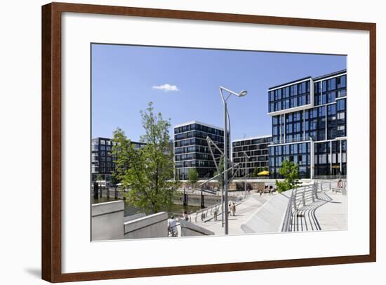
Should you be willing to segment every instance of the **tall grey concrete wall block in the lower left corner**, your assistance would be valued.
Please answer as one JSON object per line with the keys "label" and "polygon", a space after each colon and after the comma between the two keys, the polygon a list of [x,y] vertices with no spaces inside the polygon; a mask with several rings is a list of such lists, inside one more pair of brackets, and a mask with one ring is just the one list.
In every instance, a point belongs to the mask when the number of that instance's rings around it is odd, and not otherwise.
{"label": "tall grey concrete wall block in the lower left corner", "polygon": [[123,224],[124,201],[91,205],[91,240],[122,239]]}

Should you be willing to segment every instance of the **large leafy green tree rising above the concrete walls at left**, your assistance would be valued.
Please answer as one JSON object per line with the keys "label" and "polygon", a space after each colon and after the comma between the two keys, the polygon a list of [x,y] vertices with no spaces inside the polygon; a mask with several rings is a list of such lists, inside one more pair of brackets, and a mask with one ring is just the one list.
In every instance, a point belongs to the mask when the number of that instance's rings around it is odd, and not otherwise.
{"label": "large leafy green tree rising above the concrete walls at left", "polygon": [[178,186],[173,181],[173,160],[170,158],[173,154],[167,151],[171,123],[163,119],[161,113],[154,113],[152,102],[140,114],[145,130],[140,141],[146,145],[134,149],[124,131],[117,128],[112,147],[112,155],[116,157],[114,175],[121,181],[121,187],[128,189],[124,196],[130,204],[157,213],[161,208],[171,206]]}

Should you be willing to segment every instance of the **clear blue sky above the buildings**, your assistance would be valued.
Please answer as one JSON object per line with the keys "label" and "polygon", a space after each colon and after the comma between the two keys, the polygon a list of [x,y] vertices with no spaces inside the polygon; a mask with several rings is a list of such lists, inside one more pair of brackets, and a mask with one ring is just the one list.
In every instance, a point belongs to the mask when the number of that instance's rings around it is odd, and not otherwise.
{"label": "clear blue sky above the buildings", "polygon": [[232,140],[269,135],[269,87],[345,68],[342,55],[93,44],[92,137],[111,138],[120,127],[139,140],[140,110],[149,101],[172,126],[197,120],[222,127],[219,86],[248,91],[227,101]]}

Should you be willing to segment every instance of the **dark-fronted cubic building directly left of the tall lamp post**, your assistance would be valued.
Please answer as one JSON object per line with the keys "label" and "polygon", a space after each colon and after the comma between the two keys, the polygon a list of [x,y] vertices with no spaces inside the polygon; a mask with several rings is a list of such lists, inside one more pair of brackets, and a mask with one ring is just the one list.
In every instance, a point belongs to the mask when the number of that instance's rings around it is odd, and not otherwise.
{"label": "dark-fronted cubic building directly left of the tall lamp post", "polygon": [[[199,178],[211,178],[215,164],[209,150],[206,137],[209,137],[224,150],[224,129],[199,121],[189,121],[174,126],[174,164],[175,178],[188,179],[188,171],[195,168]],[[229,146],[229,144],[228,144]],[[229,147],[228,147],[229,150]],[[229,152],[228,152],[229,153]],[[213,147],[213,154],[218,159],[221,154]]]}

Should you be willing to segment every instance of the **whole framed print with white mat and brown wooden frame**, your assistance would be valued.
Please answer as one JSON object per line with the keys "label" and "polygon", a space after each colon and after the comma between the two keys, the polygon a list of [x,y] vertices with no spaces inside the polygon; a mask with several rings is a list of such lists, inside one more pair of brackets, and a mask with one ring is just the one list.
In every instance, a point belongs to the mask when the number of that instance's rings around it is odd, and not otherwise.
{"label": "whole framed print with white mat and brown wooden frame", "polygon": [[42,27],[43,279],[375,261],[374,23],[52,3]]}

